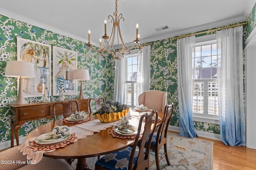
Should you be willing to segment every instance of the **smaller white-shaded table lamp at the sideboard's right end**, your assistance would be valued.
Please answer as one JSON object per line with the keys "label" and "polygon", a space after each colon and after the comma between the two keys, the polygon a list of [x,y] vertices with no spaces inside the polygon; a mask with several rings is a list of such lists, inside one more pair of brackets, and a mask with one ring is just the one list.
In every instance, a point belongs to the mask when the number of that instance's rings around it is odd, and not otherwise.
{"label": "smaller white-shaded table lamp at the sideboard's right end", "polygon": [[73,80],[80,80],[80,94],[78,99],[85,99],[82,88],[82,80],[90,80],[89,70],[78,69],[73,72]]}

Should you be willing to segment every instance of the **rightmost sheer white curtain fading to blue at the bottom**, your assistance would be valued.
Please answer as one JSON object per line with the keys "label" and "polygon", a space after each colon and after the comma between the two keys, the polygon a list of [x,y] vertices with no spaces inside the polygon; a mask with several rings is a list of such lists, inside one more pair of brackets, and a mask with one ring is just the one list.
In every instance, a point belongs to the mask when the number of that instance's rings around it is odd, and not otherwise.
{"label": "rightmost sheer white curtain fading to blue at the bottom", "polygon": [[242,35],[242,26],[217,31],[220,138],[230,146],[245,143]]}

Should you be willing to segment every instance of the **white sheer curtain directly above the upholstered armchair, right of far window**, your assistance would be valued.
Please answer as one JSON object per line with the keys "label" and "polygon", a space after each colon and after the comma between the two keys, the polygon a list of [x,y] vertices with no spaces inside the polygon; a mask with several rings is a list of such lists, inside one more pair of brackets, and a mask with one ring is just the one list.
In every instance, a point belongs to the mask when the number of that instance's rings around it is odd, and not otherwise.
{"label": "white sheer curtain directly above the upholstered armchair, right of far window", "polygon": [[150,52],[151,45],[142,47],[142,53],[138,54],[138,94],[149,90],[150,83]]}

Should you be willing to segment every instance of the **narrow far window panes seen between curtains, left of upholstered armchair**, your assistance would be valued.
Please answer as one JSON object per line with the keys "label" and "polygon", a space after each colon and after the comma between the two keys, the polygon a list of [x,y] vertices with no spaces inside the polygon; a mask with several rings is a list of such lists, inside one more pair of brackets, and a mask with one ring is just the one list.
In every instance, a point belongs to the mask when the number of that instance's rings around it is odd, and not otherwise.
{"label": "narrow far window panes seen between curtains, left of upholstered armchair", "polygon": [[126,82],[124,92],[124,103],[134,108],[138,102],[138,54],[126,55]]}

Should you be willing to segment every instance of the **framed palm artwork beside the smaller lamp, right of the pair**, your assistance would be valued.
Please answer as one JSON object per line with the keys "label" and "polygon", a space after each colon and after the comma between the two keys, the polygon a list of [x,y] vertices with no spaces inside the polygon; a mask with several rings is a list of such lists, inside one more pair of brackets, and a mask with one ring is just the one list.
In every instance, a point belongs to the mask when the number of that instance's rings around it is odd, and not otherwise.
{"label": "framed palm artwork beside the smaller lamp, right of the pair", "polygon": [[72,79],[77,68],[77,52],[53,46],[52,55],[53,96],[76,95],[77,83]]}

